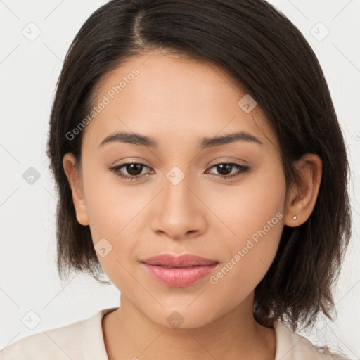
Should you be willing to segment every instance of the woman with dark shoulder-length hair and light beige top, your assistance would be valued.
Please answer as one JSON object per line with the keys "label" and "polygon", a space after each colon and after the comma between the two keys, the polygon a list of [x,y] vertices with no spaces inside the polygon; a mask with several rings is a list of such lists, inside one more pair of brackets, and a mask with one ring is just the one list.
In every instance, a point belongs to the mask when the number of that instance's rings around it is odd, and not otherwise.
{"label": "woman with dark shoulder-length hair and light beige top", "polygon": [[270,4],[105,4],[48,146],[59,274],[103,271],[121,304],[2,359],[340,359],[294,331],[331,319],[347,153],[314,52]]}

